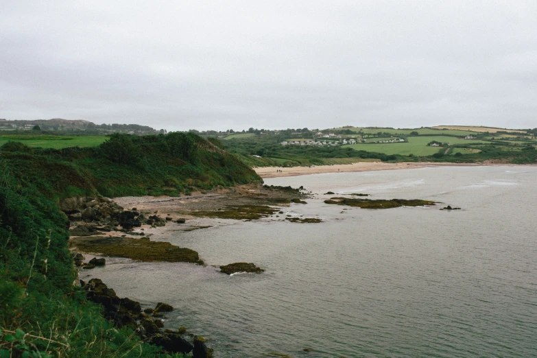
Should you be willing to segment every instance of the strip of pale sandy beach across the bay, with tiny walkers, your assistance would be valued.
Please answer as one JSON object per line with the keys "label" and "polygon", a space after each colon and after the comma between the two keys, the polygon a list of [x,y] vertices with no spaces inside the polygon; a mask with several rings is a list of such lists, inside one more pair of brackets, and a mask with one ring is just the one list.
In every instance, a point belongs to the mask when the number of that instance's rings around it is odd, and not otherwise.
{"label": "strip of pale sandy beach across the bay, with tiny walkers", "polygon": [[[344,173],[349,171],[372,171],[392,169],[414,169],[424,167],[444,167],[453,165],[479,166],[475,163],[382,163],[382,162],[359,162],[341,165],[315,165],[315,167],[257,167],[254,168],[261,178],[278,178],[282,176],[304,176],[307,174]],[[281,170],[278,171],[278,170]]]}

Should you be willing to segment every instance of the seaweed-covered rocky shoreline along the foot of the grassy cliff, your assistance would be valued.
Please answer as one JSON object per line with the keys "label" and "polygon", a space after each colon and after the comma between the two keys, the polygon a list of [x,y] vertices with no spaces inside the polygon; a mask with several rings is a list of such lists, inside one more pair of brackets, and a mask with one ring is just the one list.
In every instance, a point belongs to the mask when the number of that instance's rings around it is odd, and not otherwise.
{"label": "seaweed-covered rocky shoreline along the foot of the grassy cliff", "polygon": [[[169,242],[152,241],[158,228],[176,225],[191,231],[211,227],[216,219],[252,220],[279,217],[282,206],[307,204],[307,193],[291,187],[244,185],[220,189],[211,193],[194,193],[179,198],[128,197],[111,200],[102,197],[68,198],[60,208],[70,219],[75,265],[79,270],[91,270],[106,264],[101,256],[125,257],[134,261],[188,262],[202,265],[198,252],[179,248]],[[126,210],[124,207],[131,207]],[[284,218],[282,218],[284,219]],[[85,262],[84,254],[95,254]],[[262,273],[254,263],[230,263],[220,266],[220,272]],[[164,329],[160,318],[173,307],[159,302],[154,309],[141,309],[140,302],[119,298],[98,278],[80,281],[88,300],[104,308],[108,320],[121,328],[129,326],[144,342],[163,348],[167,353],[192,353],[193,357],[212,357],[204,337],[188,334],[184,327]],[[191,338],[191,339],[190,339]]]}

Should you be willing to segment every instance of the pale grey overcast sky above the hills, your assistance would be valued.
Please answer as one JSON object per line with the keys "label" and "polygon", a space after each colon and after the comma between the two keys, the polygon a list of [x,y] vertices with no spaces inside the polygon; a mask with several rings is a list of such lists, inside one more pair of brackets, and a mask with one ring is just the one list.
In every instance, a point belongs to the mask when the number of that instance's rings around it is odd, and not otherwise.
{"label": "pale grey overcast sky above the hills", "polygon": [[0,49],[6,119],[537,127],[537,1],[3,1]]}

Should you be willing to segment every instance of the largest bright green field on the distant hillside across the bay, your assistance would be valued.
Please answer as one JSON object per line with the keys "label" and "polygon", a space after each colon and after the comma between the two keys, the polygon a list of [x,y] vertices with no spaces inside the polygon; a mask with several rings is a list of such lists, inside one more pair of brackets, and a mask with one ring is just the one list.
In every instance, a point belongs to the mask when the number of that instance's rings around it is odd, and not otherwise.
{"label": "largest bright green field on the distant hillside across the bay", "polygon": [[469,144],[469,143],[488,143],[477,139],[460,139],[454,136],[409,136],[408,143],[366,143],[353,144],[346,147],[351,147],[355,150],[366,150],[368,152],[378,152],[391,154],[415,156],[430,156],[440,150],[439,147],[429,147],[427,143],[431,141],[448,142],[450,144]]}

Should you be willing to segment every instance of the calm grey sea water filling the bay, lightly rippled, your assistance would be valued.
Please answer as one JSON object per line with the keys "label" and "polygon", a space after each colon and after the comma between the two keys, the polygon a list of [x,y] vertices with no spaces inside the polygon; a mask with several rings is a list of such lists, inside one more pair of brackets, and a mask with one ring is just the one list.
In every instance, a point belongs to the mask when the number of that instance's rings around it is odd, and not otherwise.
{"label": "calm grey sea water filling the bay, lightly rippled", "polygon": [[[165,324],[208,337],[216,357],[537,357],[537,167],[265,182],[317,193],[284,211],[324,222],[167,231],[163,240],[197,250],[208,266],[112,259],[91,274],[119,296],[170,303]],[[326,191],[462,210],[342,210],[322,202]],[[227,276],[211,266],[236,261],[266,272]]]}

